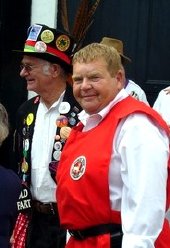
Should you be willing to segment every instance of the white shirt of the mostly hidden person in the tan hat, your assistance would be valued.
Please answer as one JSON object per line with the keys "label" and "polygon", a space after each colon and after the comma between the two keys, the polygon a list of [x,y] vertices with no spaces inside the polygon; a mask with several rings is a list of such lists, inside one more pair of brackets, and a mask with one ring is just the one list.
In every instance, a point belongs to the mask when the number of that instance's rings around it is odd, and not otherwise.
{"label": "white shirt of the mostly hidden person in the tan hat", "polygon": [[125,87],[125,89],[128,92],[128,94],[133,96],[137,100],[142,101],[142,102],[146,103],[147,105],[149,105],[144,90],[138,84],[136,84],[134,81],[132,81],[130,79],[127,79],[127,80],[128,80],[128,84]]}

